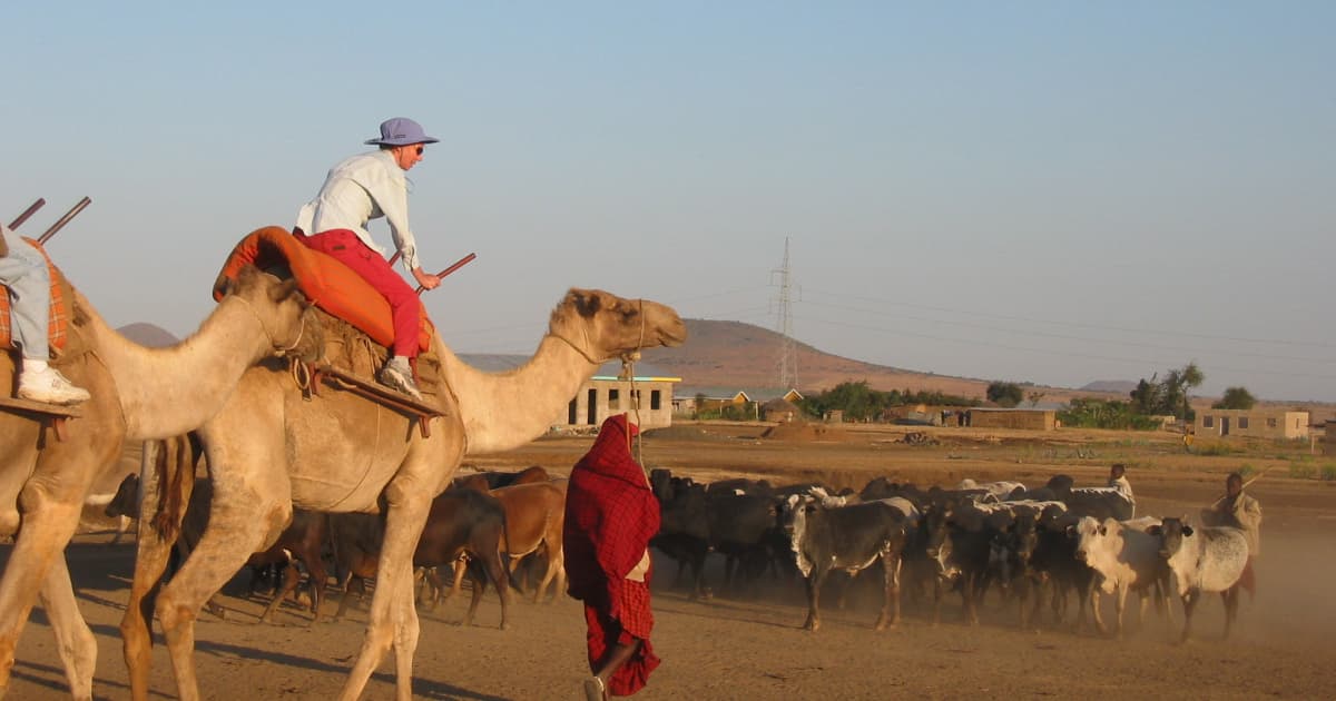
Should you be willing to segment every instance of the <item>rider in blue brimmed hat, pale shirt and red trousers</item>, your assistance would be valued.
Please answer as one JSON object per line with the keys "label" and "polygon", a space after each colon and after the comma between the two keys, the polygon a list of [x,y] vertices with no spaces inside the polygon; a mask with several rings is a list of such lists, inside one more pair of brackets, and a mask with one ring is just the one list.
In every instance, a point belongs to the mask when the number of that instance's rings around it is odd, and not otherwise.
{"label": "rider in blue brimmed hat, pale shirt and red trousers", "polygon": [[437,142],[411,119],[383,122],[381,136],[366,142],[379,150],[358,154],[330,168],[319,194],[297,215],[298,239],[353,268],[390,303],[394,346],[378,379],[414,399],[422,399],[422,394],[409,361],[418,354],[422,303],[390,267],[366,224],[383,216],[405,270],[425,290],[441,284],[441,278],[424,271],[418,260],[417,242],[409,228],[409,183],[403,175],[422,160],[426,144]]}

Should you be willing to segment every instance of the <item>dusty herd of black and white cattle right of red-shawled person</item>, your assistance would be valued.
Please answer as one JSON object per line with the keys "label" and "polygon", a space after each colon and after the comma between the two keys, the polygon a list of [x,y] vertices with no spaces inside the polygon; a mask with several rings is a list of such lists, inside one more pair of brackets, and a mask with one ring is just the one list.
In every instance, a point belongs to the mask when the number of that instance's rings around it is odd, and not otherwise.
{"label": "dusty herd of black and white cattle right of red-shawled person", "polygon": [[677,561],[679,581],[689,575],[692,598],[712,594],[704,563],[719,553],[723,586],[735,594],[764,577],[803,578],[810,630],[820,626],[820,597],[832,573],[868,570],[880,583],[878,630],[899,624],[902,588],[915,598],[931,592],[934,624],[953,590],[963,620],[978,624],[979,604],[993,588],[1015,606],[1021,626],[1038,622],[1045,602],[1054,622],[1066,621],[1075,600],[1075,625],[1083,626],[1089,613],[1101,633],[1108,628],[1100,594],[1112,594],[1118,636],[1129,593],[1141,597],[1142,616],[1154,600],[1170,620],[1169,602],[1180,600],[1182,638],[1208,592],[1224,598],[1228,636],[1240,585],[1249,582],[1241,531],[1136,518],[1130,489],[1077,487],[1066,475],[1038,489],[967,479],[927,490],[878,477],[856,493],[820,483],[697,483],[667,470],[655,470],[651,483],[663,510],[652,545]]}

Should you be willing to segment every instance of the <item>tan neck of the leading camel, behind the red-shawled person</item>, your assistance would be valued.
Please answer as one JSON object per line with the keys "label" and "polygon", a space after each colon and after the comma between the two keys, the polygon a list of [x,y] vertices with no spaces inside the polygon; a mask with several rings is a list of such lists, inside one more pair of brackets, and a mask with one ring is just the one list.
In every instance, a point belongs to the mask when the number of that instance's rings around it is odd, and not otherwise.
{"label": "tan neck of the leading camel, behind the red-shawled person", "polygon": [[469,454],[510,450],[542,435],[599,370],[552,335],[544,336],[528,363],[506,373],[470,367],[444,344],[441,365],[460,399]]}

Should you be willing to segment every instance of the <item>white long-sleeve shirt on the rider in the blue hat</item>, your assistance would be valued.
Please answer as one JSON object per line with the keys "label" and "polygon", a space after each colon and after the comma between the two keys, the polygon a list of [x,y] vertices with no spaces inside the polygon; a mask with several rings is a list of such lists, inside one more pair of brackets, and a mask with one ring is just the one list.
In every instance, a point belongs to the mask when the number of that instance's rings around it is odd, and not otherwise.
{"label": "white long-sleeve shirt on the rider in the blue hat", "polygon": [[389,222],[394,246],[403,256],[403,268],[411,274],[421,267],[421,262],[413,230],[409,228],[407,178],[393,154],[378,150],[358,154],[330,168],[321,192],[297,214],[297,227],[309,235],[347,228],[367,248],[383,256],[385,250],[366,230],[367,222],[379,216]]}

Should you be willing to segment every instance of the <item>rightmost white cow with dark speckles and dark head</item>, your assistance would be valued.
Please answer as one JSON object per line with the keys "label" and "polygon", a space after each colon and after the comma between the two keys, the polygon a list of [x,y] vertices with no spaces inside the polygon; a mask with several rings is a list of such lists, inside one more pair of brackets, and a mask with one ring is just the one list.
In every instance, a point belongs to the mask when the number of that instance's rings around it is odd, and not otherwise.
{"label": "rightmost white cow with dark speckles and dark head", "polygon": [[1192,612],[1202,592],[1225,601],[1225,637],[1238,617],[1238,579],[1248,566],[1248,538],[1238,529],[1193,529],[1186,518],[1165,518],[1149,529],[1169,567],[1173,590],[1182,598],[1182,640],[1192,636]]}

